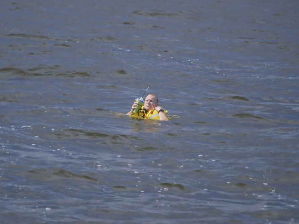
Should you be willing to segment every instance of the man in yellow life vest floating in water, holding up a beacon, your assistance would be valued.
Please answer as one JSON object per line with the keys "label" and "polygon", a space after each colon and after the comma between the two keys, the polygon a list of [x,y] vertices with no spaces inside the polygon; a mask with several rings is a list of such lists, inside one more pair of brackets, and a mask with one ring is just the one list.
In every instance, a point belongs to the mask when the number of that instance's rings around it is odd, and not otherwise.
{"label": "man in yellow life vest floating in water, holding up a beacon", "polygon": [[[157,118],[159,118],[160,121],[167,121],[168,118],[165,114],[165,111],[158,105],[158,103],[159,100],[157,96],[155,96],[154,94],[148,94],[144,101],[144,107],[142,107],[142,109],[144,109],[145,111],[145,114],[142,117],[155,120],[158,120]],[[129,111],[127,115],[133,115],[133,111],[137,107],[138,103],[134,101],[131,111]]]}

